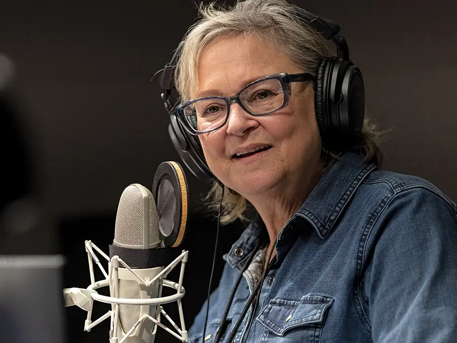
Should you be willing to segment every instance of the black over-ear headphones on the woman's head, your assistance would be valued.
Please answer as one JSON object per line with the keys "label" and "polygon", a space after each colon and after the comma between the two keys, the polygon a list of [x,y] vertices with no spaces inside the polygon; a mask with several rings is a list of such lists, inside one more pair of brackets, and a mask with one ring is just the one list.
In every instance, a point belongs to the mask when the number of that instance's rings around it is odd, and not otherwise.
{"label": "black over-ear headphones on the woman's head", "polygon": [[[345,38],[338,35],[340,28],[337,23],[319,18],[303,9],[298,9],[295,14],[336,45],[336,58],[323,59],[319,64],[314,106],[322,141],[328,146],[350,146],[362,130],[365,116],[362,73],[349,59],[349,47]],[[173,73],[183,43],[179,43],[171,61],[165,65],[160,80],[163,90],[161,97],[170,114],[168,133],[176,151],[192,174],[203,181],[218,181],[206,163],[198,136],[187,132],[177,120],[174,108],[178,104],[170,101],[175,89]]]}

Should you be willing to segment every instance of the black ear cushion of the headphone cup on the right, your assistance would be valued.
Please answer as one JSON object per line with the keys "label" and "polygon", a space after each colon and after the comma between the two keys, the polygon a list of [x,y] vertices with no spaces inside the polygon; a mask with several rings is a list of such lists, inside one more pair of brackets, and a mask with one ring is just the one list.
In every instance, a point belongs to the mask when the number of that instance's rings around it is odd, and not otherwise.
{"label": "black ear cushion of the headphone cup on the right", "polygon": [[323,59],[318,68],[316,87],[314,90],[314,110],[316,112],[316,121],[319,131],[321,133],[321,139],[325,140],[330,134],[330,123],[328,120],[328,78],[329,70],[331,66],[330,59]]}

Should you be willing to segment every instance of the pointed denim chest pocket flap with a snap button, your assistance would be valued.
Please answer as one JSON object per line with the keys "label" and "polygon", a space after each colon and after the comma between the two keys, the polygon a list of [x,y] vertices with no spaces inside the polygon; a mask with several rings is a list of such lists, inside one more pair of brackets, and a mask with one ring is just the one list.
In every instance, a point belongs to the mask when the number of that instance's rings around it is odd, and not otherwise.
{"label": "pointed denim chest pocket flap with a snap button", "polygon": [[257,322],[282,336],[294,327],[324,325],[333,299],[321,295],[305,295],[300,301],[272,299],[257,317]]}

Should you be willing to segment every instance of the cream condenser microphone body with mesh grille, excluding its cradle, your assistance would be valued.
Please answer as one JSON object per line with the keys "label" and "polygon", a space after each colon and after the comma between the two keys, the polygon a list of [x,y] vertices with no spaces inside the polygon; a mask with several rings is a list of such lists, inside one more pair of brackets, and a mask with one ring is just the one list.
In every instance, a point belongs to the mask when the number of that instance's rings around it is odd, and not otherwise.
{"label": "cream condenser microphone body with mesh grille, excluding its cradle", "polygon": [[[158,258],[160,248],[159,219],[153,194],[140,184],[128,186],[119,200],[116,215],[115,238],[109,247],[109,257],[118,256],[129,265],[142,279],[153,280],[168,264],[163,258]],[[167,255],[168,251],[165,252]],[[139,282],[127,268],[118,269],[119,294],[121,298],[151,299],[159,298],[162,294],[163,280],[146,286]],[[110,287],[110,295],[116,296],[116,288]],[[115,310],[114,306],[113,310]],[[125,335],[144,315],[158,318],[158,305],[119,305],[118,334]],[[157,326],[151,321],[138,325],[126,343],[154,342]]]}

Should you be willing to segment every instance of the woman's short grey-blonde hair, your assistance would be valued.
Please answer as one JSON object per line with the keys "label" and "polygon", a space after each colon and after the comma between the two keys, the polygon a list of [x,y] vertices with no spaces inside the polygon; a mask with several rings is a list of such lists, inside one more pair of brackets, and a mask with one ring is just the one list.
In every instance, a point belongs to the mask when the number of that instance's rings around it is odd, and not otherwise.
{"label": "woman's short grey-blonde hair", "polygon": [[[180,100],[189,100],[195,93],[200,53],[217,37],[243,35],[273,44],[303,71],[316,77],[320,61],[335,54],[327,41],[297,16],[297,9],[285,0],[240,0],[234,7],[226,8],[202,4],[199,8],[200,20],[187,31],[175,69],[174,83]],[[366,118],[358,141],[352,148],[359,149],[366,161],[380,165],[383,160],[383,153],[378,146],[381,137],[382,132],[377,131],[375,125]],[[323,146],[324,162],[337,158],[340,152],[341,149]],[[206,196],[210,208],[217,209],[222,201],[221,223],[224,224],[237,218],[245,219],[248,201],[226,186],[225,190],[222,192],[222,187],[214,183]]]}

